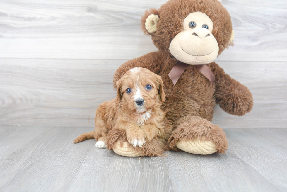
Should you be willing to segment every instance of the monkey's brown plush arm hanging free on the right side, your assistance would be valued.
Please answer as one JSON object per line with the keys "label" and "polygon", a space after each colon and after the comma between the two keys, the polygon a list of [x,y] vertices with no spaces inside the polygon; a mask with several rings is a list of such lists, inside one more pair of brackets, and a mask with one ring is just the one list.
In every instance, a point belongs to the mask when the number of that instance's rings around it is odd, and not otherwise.
{"label": "monkey's brown plush arm hanging free on the right side", "polygon": [[211,64],[211,70],[215,75],[215,97],[225,112],[232,115],[245,115],[253,107],[253,97],[249,89],[232,79],[218,64]]}

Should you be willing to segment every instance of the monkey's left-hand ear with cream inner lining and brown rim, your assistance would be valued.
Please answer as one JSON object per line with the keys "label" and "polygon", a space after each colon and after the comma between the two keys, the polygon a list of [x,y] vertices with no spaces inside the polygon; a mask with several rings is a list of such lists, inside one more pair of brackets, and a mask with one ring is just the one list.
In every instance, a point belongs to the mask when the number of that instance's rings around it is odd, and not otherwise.
{"label": "monkey's left-hand ear with cream inner lining and brown rim", "polygon": [[156,26],[159,21],[159,12],[155,8],[151,8],[145,11],[141,16],[141,29],[145,35],[151,35],[156,32]]}

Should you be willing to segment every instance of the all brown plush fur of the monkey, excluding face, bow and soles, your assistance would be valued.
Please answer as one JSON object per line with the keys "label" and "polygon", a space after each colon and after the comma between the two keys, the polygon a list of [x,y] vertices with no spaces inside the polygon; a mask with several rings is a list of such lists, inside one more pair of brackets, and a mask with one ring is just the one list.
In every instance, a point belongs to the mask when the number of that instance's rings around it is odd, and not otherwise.
{"label": "all brown plush fur of the monkey, excluding face, bow and soles", "polygon": [[[175,145],[179,140],[211,140],[218,147],[219,153],[225,153],[228,147],[226,135],[222,128],[210,122],[215,103],[230,114],[244,115],[253,106],[252,94],[248,88],[232,79],[215,62],[207,64],[215,75],[215,86],[194,65],[187,67],[176,85],[168,77],[178,62],[170,54],[170,42],[183,30],[184,18],[195,11],[206,13],[213,21],[212,34],[218,42],[218,55],[226,49],[232,33],[232,23],[229,13],[218,0],[170,0],[158,10],[147,10],[141,19],[141,28],[145,34],[151,35],[159,50],[122,64],[115,72],[114,86],[133,67],[144,67],[160,75],[165,85],[166,99],[161,107],[166,112],[163,137],[168,140],[170,149],[178,151]],[[144,26],[150,14],[157,14],[160,18],[154,33],[148,33]],[[109,142],[112,147],[116,141],[125,140],[124,132],[114,134],[111,139]],[[160,141],[157,148],[163,145],[164,141]],[[153,150],[148,147],[146,145],[145,150]]]}

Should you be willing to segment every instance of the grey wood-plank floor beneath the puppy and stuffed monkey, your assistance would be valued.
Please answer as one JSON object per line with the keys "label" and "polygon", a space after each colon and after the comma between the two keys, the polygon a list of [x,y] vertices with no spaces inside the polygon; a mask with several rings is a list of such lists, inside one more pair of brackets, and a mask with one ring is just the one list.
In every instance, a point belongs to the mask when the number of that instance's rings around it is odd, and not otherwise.
{"label": "grey wood-plank floor beneath the puppy and stuffed monkey", "polygon": [[[0,191],[286,191],[287,129],[226,129],[226,154],[122,157],[72,140],[91,128],[1,126]],[[27,130],[41,130],[40,134]],[[27,140],[15,140],[17,134]],[[258,133],[260,133],[258,135]],[[15,145],[17,144],[17,145]]]}

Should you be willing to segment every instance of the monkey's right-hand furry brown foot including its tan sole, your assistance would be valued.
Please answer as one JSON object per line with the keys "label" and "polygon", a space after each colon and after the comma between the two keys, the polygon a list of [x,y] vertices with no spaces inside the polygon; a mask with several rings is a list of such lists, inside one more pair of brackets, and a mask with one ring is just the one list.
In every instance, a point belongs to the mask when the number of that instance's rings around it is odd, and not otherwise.
{"label": "monkey's right-hand furry brown foot including its tan sole", "polygon": [[168,139],[170,149],[194,154],[225,153],[228,141],[223,129],[199,116],[185,116]]}

